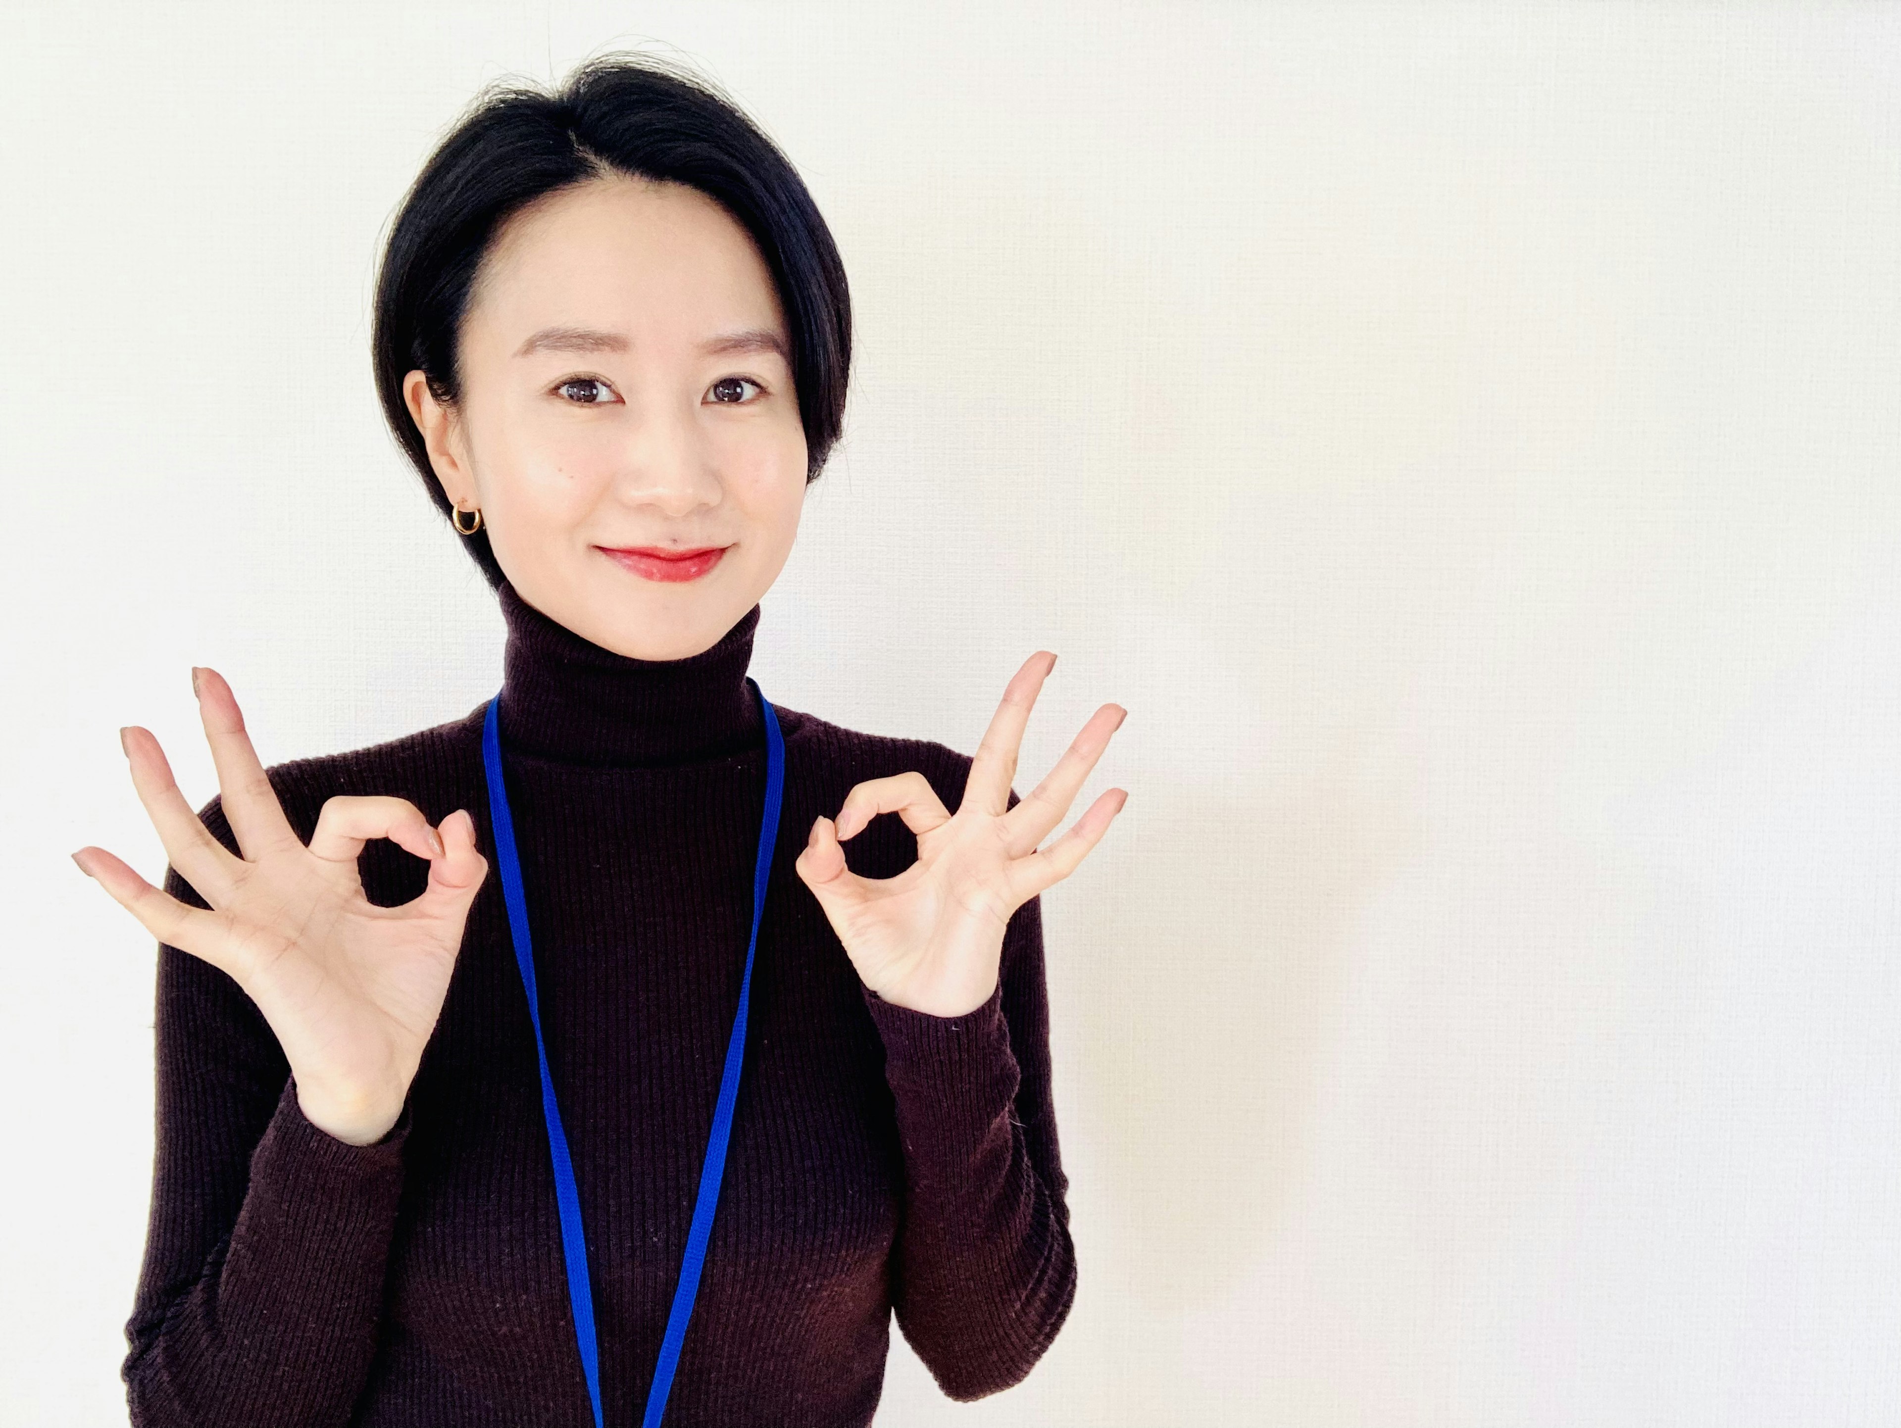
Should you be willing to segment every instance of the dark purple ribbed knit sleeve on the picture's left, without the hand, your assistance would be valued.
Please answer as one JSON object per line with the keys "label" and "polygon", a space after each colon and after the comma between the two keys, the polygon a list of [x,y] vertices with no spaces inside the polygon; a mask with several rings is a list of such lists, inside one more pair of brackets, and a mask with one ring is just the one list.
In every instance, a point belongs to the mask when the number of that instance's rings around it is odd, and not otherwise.
{"label": "dark purple ribbed knit sleeve on the picture's left, without the hand", "polygon": [[[236,852],[217,799],[200,818]],[[177,871],[165,890],[203,899]],[[270,1025],[160,947],[156,1148],[125,1325],[135,1428],[344,1424],[369,1375],[409,1112],[376,1145],[312,1126]]]}

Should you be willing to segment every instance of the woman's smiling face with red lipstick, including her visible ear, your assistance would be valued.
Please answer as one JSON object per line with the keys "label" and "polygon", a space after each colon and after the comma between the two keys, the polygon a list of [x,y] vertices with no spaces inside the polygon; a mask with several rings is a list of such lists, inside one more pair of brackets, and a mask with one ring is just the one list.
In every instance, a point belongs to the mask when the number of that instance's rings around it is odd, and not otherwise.
{"label": "woman's smiling face with red lipstick, including her visible ear", "polygon": [[454,407],[422,371],[403,394],[443,491],[481,510],[528,605],[618,654],[679,660],[758,603],[798,534],[789,352],[772,274],[732,215],[698,188],[614,177],[500,228]]}

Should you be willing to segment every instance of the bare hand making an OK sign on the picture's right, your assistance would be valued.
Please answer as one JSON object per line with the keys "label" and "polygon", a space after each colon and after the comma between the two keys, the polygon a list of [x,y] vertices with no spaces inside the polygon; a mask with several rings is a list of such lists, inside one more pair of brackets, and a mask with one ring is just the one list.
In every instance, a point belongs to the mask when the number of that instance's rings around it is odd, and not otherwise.
{"label": "bare hand making an OK sign on the picture's right", "polygon": [[[1074,873],[1129,801],[1125,789],[1108,789],[1068,833],[1038,850],[1129,713],[1104,704],[1030,797],[1009,808],[1023,728],[1055,662],[1055,654],[1038,650],[1009,681],[971,759],[956,814],[924,774],[909,772],[857,783],[836,821],[821,816],[812,825],[795,863],[798,877],[825,909],[857,975],[886,1002],[939,1017],[960,1017],[989,1002],[1011,913]],[[897,814],[918,835],[918,861],[895,878],[865,878],[844,861],[840,840],[878,814]]]}

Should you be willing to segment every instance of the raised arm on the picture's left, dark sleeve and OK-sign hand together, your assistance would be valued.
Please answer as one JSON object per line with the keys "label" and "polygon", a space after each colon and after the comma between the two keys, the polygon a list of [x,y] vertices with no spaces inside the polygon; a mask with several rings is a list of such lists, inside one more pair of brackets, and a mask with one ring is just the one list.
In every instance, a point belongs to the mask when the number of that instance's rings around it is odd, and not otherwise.
{"label": "raised arm on the picture's left, dark sleeve and OK-sign hand together", "polygon": [[[230,686],[194,671],[221,795],[198,814],[158,740],[125,728],[171,867],[154,888],[105,848],[74,861],[160,939],[158,1152],[127,1399],[141,1426],[342,1424],[376,1339],[409,1086],[487,875],[468,812],[394,797],[293,801]],[[287,776],[279,774],[279,780]],[[430,861],[373,905],[371,839]]]}

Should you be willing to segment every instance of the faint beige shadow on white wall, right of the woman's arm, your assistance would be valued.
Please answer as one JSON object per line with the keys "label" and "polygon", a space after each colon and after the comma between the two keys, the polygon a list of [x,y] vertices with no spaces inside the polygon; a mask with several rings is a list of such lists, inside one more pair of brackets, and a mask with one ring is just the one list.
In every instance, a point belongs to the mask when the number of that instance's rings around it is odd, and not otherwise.
{"label": "faint beige shadow on white wall, right of the woman's arm", "polygon": [[1304,1173],[1355,926],[1422,844],[1416,770],[1327,730],[1291,778],[1171,801],[1101,903],[1074,1093],[1110,1171],[1116,1278],[1205,1304],[1264,1253]]}

